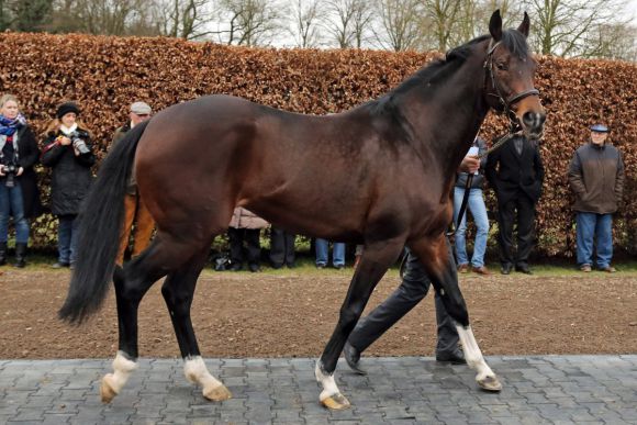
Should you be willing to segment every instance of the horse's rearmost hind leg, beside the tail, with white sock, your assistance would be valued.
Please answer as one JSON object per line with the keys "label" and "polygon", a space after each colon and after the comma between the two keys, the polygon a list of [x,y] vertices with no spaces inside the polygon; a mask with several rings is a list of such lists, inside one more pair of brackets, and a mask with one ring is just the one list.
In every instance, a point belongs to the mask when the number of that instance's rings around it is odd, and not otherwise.
{"label": "horse's rearmost hind leg, beside the tail, with white sock", "polygon": [[142,298],[158,279],[177,269],[193,251],[187,244],[175,242],[169,235],[159,233],[150,247],[141,256],[115,269],[113,281],[118,302],[120,329],[119,350],[113,360],[113,373],[102,379],[102,402],[109,403],[137,368],[137,311]]}

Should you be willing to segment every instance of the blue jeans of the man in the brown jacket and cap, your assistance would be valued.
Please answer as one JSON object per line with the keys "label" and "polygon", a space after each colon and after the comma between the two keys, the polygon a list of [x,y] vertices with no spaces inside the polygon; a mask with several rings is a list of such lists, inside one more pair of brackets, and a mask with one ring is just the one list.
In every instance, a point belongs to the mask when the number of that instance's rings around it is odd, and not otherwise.
{"label": "blue jeans of the man in the brown jacket and cap", "polygon": [[613,258],[613,215],[578,212],[578,265],[593,265],[593,239],[596,236],[597,267],[611,266]]}

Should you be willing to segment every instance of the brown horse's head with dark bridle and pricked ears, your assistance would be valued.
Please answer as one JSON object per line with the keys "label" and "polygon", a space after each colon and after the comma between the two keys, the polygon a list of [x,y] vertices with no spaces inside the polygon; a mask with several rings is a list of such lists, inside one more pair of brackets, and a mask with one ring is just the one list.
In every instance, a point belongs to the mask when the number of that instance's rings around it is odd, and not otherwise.
{"label": "brown horse's head with dark bridle and pricked ears", "polygon": [[502,30],[500,10],[491,15],[484,86],[489,104],[507,113],[528,138],[537,139],[543,135],[546,113],[533,83],[536,63],[526,43],[529,25],[526,12],[517,30],[506,31]]}

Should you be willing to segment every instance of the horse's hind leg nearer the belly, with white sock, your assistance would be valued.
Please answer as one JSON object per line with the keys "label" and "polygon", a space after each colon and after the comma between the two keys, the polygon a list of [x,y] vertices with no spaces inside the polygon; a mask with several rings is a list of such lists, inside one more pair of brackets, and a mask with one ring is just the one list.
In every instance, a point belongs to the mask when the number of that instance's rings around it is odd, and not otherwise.
{"label": "horse's hind leg nearer the belly, with white sock", "polygon": [[201,249],[192,260],[168,275],[161,287],[161,294],[166,300],[181,357],[185,361],[183,373],[186,378],[192,383],[200,384],[203,388],[203,396],[208,400],[223,401],[230,399],[232,394],[223,383],[208,371],[201,358],[190,318],[190,306],[192,305],[197,278],[203,269],[209,250],[210,244]]}

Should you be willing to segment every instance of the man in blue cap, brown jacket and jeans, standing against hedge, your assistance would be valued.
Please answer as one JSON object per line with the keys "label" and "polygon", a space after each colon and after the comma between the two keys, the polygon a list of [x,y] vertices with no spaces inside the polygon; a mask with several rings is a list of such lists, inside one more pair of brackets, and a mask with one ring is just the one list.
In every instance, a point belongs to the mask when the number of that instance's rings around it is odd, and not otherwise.
{"label": "man in blue cap, brown jacket and jeans, standing against hedge", "polygon": [[624,163],[619,150],[606,144],[608,128],[591,126],[591,143],[580,146],[569,167],[569,183],[575,192],[578,266],[584,272],[593,266],[596,238],[597,268],[615,272],[613,258],[613,213],[624,190]]}

